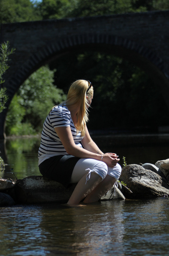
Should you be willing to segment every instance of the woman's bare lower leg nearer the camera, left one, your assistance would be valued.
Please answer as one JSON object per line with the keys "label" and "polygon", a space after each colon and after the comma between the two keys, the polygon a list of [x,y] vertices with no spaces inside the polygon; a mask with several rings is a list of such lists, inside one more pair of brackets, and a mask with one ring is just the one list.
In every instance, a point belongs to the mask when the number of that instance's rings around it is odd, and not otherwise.
{"label": "woman's bare lower leg nearer the camera, left one", "polygon": [[76,185],[67,204],[69,205],[79,204],[84,197],[86,197],[90,192],[94,190],[94,188],[96,188],[96,186],[101,182],[101,180],[102,178],[98,174],[91,173],[90,179],[86,182],[86,174],[85,174]]}

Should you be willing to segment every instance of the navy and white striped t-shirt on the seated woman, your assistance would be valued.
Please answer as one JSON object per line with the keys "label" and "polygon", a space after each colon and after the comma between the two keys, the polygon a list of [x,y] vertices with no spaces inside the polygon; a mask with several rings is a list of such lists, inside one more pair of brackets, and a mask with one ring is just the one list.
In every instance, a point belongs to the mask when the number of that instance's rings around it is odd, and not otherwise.
{"label": "navy and white striped t-shirt on the seated woman", "polygon": [[41,142],[38,151],[39,164],[45,159],[55,155],[67,155],[60,138],[55,132],[55,127],[69,126],[75,144],[82,147],[80,141],[83,139],[81,133],[76,134],[71,113],[65,105],[55,106],[46,117],[41,134]]}

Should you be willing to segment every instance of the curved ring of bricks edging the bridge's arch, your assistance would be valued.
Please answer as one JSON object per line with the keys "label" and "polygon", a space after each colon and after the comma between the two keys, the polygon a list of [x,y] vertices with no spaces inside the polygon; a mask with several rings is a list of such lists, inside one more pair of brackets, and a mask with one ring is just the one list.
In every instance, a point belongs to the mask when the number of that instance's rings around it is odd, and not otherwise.
{"label": "curved ring of bricks edging the bridge's arch", "polygon": [[[157,78],[161,79],[163,84],[169,87],[169,77],[165,73],[165,63],[150,49],[144,47],[143,45],[139,45],[137,42],[127,38],[118,37],[111,34],[86,33],[81,35],[62,37],[58,41],[51,42],[45,47],[40,48],[36,53],[32,54],[29,59],[22,65],[22,67],[17,72],[15,72],[15,75],[10,79],[8,83],[7,94],[9,100],[7,102],[7,107],[10,105],[11,99],[19,89],[19,86],[21,86],[21,84],[28,78],[30,74],[40,68],[40,66],[50,62],[54,57],[59,57],[68,50],[71,51],[71,49],[78,49],[84,45],[88,48],[98,45],[102,51],[107,51],[108,48],[108,52],[111,52],[112,50],[112,53],[120,57],[126,57],[136,63],[142,63],[143,69],[145,66],[151,66],[151,73],[153,74],[154,69],[154,75],[157,75]],[[131,58],[130,55],[132,55]],[[134,56],[136,57],[135,59]],[[169,107],[169,94],[166,95],[165,88],[162,90],[162,93]],[[0,115],[0,137],[5,136],[3,135],[2,131],[4,130],[6,113],[7,109],[5,109],[3,113],[1,113],[2,115]]]}

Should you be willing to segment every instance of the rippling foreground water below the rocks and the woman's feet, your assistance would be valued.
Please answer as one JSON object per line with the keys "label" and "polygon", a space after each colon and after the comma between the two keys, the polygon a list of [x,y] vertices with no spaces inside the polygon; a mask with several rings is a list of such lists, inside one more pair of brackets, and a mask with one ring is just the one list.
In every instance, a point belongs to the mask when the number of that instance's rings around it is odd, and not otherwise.
{"label": "rippling foreground water below the rocks and the woman's feet", "polygon": [[169,199],[0,208],[0,255],[168,255]]}

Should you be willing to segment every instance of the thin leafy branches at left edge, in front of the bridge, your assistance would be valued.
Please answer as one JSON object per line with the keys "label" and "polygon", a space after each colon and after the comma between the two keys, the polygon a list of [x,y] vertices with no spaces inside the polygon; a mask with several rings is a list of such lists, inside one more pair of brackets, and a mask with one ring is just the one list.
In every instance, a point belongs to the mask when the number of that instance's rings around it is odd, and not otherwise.
{"label": "thin leafy branches at left edge, in front of the bridge", "polygon": [[9,42],[4,42],[0,45],[0,113],[5,109],[5,103],[8,100],[8,96],[6,95],[6,88],[2,86],[5,82],[3,80],[3,75],[9,68],[7,65],[7,61],[9,60],[10,54],[14,53],[14,49],[9,50]]}

